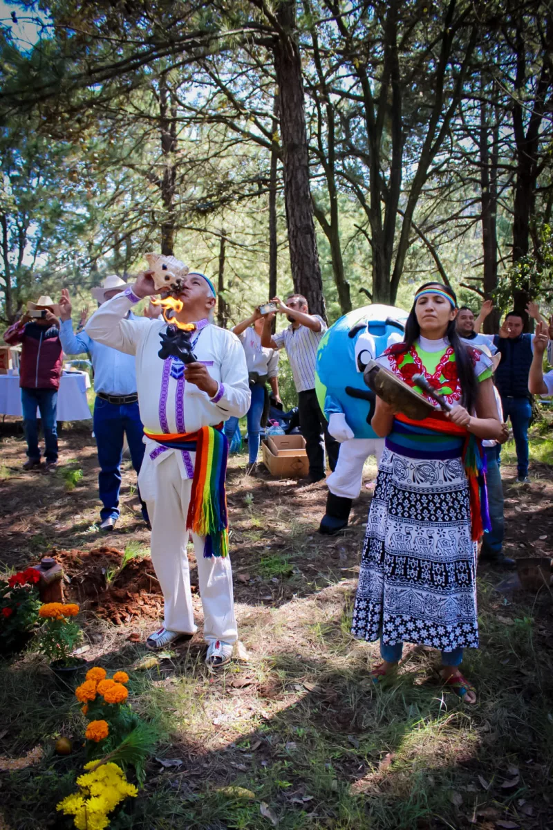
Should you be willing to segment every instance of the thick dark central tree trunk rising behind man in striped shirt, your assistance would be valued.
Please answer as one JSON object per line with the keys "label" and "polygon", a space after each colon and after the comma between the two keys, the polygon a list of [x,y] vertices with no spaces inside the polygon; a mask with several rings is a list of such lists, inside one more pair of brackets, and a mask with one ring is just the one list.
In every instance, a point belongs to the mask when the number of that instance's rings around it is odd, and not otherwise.
{"label": "thick dark central tree trunk rising behind man in striped shirt", "polygon": [[279,85],[284,201],[293,288],[307,298],[312,314],[326,319],[309,190],[308,140],[295,0],[281,0],[276,17],[280,32],[274,45],[274,68]]}

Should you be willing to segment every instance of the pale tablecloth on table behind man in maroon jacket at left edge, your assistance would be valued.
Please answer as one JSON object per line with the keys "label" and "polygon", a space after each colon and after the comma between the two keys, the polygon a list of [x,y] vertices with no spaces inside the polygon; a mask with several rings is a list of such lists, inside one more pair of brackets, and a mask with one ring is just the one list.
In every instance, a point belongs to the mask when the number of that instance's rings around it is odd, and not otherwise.
{"label": "pale tablecloth on table behind man in maroon jacket at left edge", "polygon": [[[86,399],[88,388],[90,378],[87,372],[64,372],[61,375],[57,396],[58,421],[85,421],[92,417]],[[0,374],[0,415],[22,417],[19,375]]]}

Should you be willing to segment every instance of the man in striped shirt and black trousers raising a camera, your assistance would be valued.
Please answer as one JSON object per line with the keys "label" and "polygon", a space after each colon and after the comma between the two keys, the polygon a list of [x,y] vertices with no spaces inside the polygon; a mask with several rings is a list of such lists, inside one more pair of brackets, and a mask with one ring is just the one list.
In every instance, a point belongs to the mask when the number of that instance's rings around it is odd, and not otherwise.
{"label": "man in striped shirt and black trousers raising a camera", "polygon": [[299,428],[305,438],[305,449],[309,459],[308,480],[321,481],[325,477],[325,444],[328,466],[332,471],[336,466],[340,449],[340,444],[328,432],[327,421],[319,408],[315,394],[315,359],[318,344],[327,330],[327,324],[322,317],[309,314],[308,301],[301,294],[289,295],[286,305],[278,297],[274,297],[271,302],[277,303],[278,311],[287,316],[290,325],[284,331],[271,336],[271,320],[265,318],[261,345],[264,348],[286,349],[292,368],[293,383],[298,392]]}

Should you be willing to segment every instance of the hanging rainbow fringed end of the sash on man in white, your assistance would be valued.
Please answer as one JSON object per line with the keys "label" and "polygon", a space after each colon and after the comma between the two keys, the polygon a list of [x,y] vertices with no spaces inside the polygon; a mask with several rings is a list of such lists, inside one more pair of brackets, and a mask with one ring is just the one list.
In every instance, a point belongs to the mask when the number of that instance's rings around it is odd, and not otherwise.
{"label": "hanging rainbow fringed end of the sash on man in white", "polygon": [[201,427],[196,434],[196,466],[187,515],[187,530],[206,537],[204,556],[229,552],[226,512],[227,441],[215,427]]}

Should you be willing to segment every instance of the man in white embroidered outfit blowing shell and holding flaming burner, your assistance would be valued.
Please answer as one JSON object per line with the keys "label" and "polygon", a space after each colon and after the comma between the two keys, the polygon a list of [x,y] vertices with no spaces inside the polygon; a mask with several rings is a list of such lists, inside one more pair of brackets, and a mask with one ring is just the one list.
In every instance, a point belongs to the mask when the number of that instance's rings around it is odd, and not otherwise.
{"label": "man in white embroidered outfit blowing shell and holding flaming burner", "polygon": [[134,304],[159,292],[146,271],[96,311],[86,332],[136,358],[146,444],[138,486],[148,505],[153,566],[165,602],[163,627],[146,644],[163,649],[196,632],[187,558],[192,535],[208,644],[206,663],[217,667],[229,662],[237,639],[222,423],[247,413],[250,388],[240,340],[211,323],[214,286],[206,276],[180,265],[178,293],[162,300],[173,309],[169,325],[163,316],[126,319]]}

